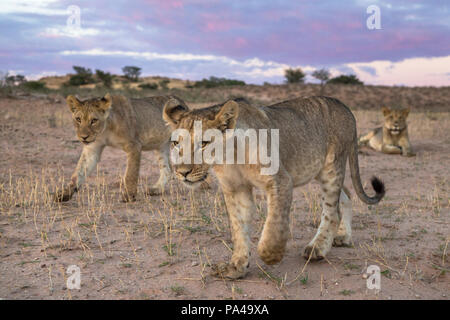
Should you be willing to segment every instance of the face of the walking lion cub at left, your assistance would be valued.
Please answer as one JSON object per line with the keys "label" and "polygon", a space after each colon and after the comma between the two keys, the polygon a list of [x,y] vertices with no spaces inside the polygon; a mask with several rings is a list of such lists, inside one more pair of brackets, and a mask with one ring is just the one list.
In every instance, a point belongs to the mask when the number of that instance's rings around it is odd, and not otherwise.
{"label": "face of the walking lion cub at left", "polygon": [[109,94],[103,98],[93,98],[80,101],[74,96],[68,96],[67,105],[72,112],[73,124],[78,139],[84,144],[95,141],[106,127],[106,121],[112,104]]}

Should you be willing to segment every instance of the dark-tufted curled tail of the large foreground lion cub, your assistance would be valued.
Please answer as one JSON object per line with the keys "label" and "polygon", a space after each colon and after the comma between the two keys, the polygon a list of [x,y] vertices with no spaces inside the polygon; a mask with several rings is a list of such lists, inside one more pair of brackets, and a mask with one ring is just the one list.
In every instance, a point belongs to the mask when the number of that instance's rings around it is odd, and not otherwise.
{"label": "dark-tufted curled tail of the large foreground lion cub", "polygon": [[386,190],[384,183],[377,177],[372,177],[372,188],[375,190],[375,196],[369,197],[361,184],[361,176],[359,175],[358,163],[358,144],[355,139],[353,146],[350,148],[349,154],[350,175],[352,177],[353,187],[355,188],[358,197],[367,204],[376,204],[384,197]]}

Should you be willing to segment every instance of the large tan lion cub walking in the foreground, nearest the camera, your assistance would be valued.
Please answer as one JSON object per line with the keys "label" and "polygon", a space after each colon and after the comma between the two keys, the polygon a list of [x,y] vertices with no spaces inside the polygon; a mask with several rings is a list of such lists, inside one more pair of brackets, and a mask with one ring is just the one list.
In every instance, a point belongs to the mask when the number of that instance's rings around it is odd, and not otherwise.
{"label": "large tan lion cub walking in the foreground, nearest the camera", "polygon": [[[336,99],[298,98],[261,108],[236,99],[199,110],[189,110],[171,99],[164,107],[163,117],[172,129],[189,130],[191,138],[195,120],[202,122],[203,130],[279,129],[280,168],[274,175],[261,175],[260,164],[173,165],[178,179],[189,186],[203,181],[211,167],[219,180],[230,218],[233,254],[230,262],[215,267],[216,275],[234,279],[246,274],[255,187],[267,195],[267,219],[258,244],[258,254],[267,264],[279,262],[284,255],[294,187],[312,179],[322,185],[321,223],[304,251],[305,257],[312,259],[323,258],[333,241],[336,245],[351,243],[351,201],[345,191],[341,191],[347,158],[358,196],[366,203],[375,204],[384,195],[384,187],[375,197],[365,194],[359,176],[355,118]],[[176,146],[174,143],[172,148]],[[247,146],[246,157],[249,151]]]}

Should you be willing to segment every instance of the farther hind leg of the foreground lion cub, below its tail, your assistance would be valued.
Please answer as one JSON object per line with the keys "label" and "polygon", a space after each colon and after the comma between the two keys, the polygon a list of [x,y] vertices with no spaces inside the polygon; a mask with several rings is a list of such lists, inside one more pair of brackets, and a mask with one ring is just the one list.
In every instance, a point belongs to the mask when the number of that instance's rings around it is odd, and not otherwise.
{"label": "farther hind leg of the foreground lion cub, below its tail", "polygon": [[335,246],[351,246],[352,244],[352,200],[350,192],[343,187],[339,196],[338,213],[340,216],[339,227],[334,237],[333,245]]}

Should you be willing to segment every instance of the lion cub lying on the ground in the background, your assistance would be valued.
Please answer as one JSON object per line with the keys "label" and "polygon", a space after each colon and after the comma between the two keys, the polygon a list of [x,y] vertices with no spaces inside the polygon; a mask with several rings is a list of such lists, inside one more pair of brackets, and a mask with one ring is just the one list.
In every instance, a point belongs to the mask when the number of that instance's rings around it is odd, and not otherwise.
{"label": "lion cub lying on the ground in the background", "polygon": [[408,125],[406,118],[409,108],[401,110],[391,110],[382,108],[384,115],[384,126],[376,128],[368,134],[359,138],[358,145],[369,146],[370,148],[388,154],[401,154],[412,157],[416,154],[411,149],[408,137]]}

